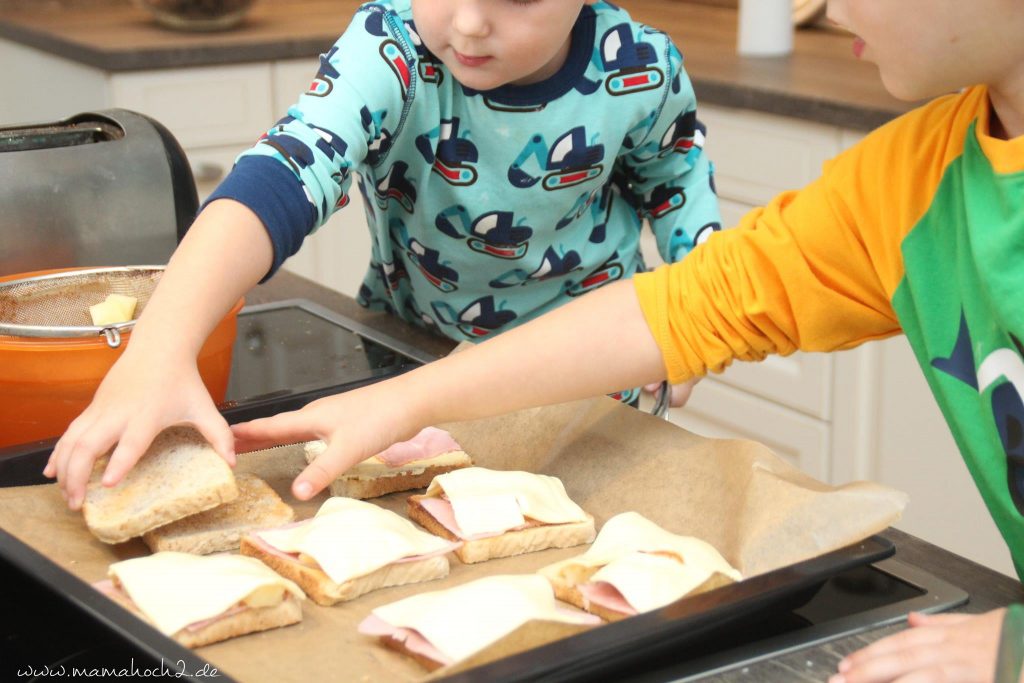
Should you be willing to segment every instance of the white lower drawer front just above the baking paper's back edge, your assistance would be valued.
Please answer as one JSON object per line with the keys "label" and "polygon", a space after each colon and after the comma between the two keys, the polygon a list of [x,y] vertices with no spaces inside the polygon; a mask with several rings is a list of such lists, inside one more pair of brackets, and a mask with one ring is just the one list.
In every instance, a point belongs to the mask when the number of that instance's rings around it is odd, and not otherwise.
{"label": "white lower drawer front just above the baking paper's back edge", "polygon": [[672,409],[669,419],[701,436],[759,441],[814,478],[829,480],[826,423],[714,379],[700,382],[686,407]]}

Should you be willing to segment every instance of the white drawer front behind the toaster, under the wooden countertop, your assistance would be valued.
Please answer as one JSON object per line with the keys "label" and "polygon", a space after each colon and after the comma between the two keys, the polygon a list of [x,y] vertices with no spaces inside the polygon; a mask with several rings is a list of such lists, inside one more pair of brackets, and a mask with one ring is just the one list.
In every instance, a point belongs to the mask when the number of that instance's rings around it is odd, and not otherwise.
{"label": "white drawer front behind the toaster, under the wooden countertop", "polygon": [[251,144],[275,121],[270,65],[116,74],[114,105],[161,122],[182,147]]}

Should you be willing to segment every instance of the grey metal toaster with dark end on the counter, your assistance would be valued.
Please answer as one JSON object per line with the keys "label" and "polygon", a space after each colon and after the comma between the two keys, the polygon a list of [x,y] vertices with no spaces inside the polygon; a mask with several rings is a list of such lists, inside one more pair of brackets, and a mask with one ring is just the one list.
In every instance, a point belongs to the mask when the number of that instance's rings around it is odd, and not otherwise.
{"label": "grey metal toaster with dark end on the counter", "polygon": [[0,127],[0,275],[167,263],[198,205],[184,152],[148,117]]}

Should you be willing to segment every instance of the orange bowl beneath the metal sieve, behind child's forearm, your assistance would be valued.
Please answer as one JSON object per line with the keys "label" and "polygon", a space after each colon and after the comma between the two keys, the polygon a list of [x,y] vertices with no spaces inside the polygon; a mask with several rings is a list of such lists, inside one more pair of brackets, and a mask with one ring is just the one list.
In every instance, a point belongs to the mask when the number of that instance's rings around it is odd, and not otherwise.
{"label": "orange bowl beneath the metal sieve, behind child's forearm", "polygon": [[[41,273],[23,273],[13,280]],[[239,310],[224,316],[200,350],[203,383],[220,402],[227,392]],[[59,436],[86,409],[114,361],[131,342],[131,331],[111,348],[102,336],[59,339],[0,336],[0,446]]]}

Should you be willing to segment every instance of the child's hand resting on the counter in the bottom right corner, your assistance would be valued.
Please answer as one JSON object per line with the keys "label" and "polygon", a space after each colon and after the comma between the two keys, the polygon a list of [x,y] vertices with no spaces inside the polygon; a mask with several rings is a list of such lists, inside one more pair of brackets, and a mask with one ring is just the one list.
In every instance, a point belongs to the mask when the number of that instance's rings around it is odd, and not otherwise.
{"label": "child's hand resting on the counter in the bottom right corner", "polygon": [[991,681],[1005,609],[984,614],[920,614],[910,628],[848,655],[828,683]]}

